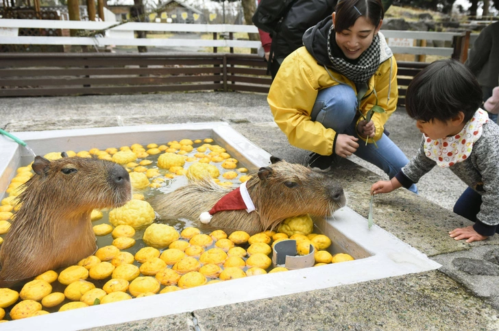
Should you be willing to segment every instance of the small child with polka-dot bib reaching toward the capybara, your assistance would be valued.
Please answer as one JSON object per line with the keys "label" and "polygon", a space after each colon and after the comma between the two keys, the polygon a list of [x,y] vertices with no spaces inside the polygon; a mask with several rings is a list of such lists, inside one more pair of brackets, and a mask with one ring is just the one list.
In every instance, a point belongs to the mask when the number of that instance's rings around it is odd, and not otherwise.
{"label": "small child with polka-dot bib reaching toward the capybara", "polygon": [[372,194],[416,183],[435,165],[449,167],[468,186],[454,212],[473,226],[449,232],[456,240],[483,241],[499,231],[499,126],[478,108],[482,90],[473,73],[455,60],[439,60],[414,77],[406,110],[423,133],[419,151],[390,181]]}

